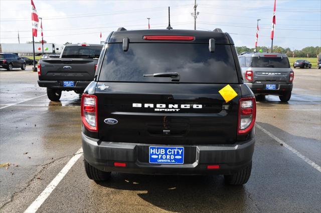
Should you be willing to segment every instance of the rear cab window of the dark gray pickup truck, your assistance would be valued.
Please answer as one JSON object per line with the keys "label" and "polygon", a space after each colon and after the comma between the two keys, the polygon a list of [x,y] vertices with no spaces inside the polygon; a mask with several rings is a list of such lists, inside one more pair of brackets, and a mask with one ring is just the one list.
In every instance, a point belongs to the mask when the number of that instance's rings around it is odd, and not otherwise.
{"label": "rear cab window of the dark gray pickup truck", "polygon": [[102,47],[95,46],[67,46],[62,58],[99,58]]}

